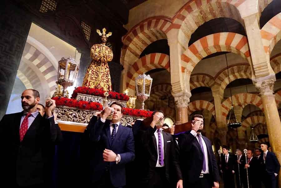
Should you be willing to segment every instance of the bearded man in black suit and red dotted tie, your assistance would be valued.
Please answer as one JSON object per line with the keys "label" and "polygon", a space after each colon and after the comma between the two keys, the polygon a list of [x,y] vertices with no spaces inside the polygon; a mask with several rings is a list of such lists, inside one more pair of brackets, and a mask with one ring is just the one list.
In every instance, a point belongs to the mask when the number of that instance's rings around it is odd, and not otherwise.
{"label": "bearded man in black suit and red dotted tie", "polygon": [[[33,89],[23,91],[23,111],[6,114],[0,122],[0,143],[2,154],[0,166],[2,184],[11,187],[47,187],[49,182],[49,146],[57,138],[52,105],[46,107],[44,117],[36,105],[39,92]],[[47,104],[47,101],[46,101]]]}

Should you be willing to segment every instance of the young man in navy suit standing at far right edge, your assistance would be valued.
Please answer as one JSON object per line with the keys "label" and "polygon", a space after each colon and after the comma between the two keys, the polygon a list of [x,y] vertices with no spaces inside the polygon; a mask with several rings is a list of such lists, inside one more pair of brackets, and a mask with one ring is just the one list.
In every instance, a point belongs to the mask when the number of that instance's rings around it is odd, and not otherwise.
{"label": "young man in navy suit standing at far right edge", "polygon": [[266,188],[276,188],[280,164],[276,155],[267,150],[267,143],[262,143],[260,147],[263,151],[260,156],[262,159],[262,182]]}

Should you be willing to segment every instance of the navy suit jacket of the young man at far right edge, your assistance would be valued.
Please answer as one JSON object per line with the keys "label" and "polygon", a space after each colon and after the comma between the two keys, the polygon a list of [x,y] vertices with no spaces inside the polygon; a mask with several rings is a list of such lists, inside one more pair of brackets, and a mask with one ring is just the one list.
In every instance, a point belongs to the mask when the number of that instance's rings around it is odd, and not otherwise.
{"label": "navy suit jacket of the young man at far right edge", "polygon": [[276,155],[273,152],[268,151],[264,164],[264,153],[260,155],[260,163],[262,168],[270,175],[274,175],[274,173],[279,174],[280,164],[277,160]]}

